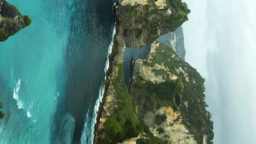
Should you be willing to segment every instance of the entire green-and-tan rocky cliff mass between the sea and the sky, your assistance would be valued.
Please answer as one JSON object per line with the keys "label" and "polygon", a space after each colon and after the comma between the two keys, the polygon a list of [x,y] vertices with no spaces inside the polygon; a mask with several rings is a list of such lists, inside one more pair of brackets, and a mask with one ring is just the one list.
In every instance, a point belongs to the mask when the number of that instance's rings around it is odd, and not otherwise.
{"label": "entire green-and-tan rocky cliff mass between the sea and the sky", "polygon": [[[117,32],[94,143],[211,140],[210,128],[205,127],[211,116],[205,110],[203,79],[170,48],[155,41],[187,21],[189,12],[181,0],[117,1]],[[147,60],[135,61],[129,90],[124,79],[123,53],[126,46],[139,49],[144,45],[151,45],[150,55]]]}

